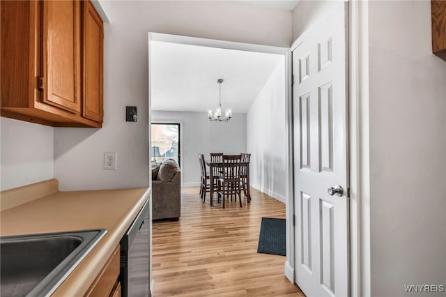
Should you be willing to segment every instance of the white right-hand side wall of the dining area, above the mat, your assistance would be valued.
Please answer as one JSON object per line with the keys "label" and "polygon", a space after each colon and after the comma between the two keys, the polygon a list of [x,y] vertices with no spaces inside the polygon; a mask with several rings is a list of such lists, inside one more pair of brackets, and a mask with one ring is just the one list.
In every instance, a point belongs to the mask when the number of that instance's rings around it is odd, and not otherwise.
{"label": "white right-hand side wall of the dining area, above the mat", "polygon": [[247,112],[249,182],[282,202],[286,191],[285,103],[285,59],[282,58]]}

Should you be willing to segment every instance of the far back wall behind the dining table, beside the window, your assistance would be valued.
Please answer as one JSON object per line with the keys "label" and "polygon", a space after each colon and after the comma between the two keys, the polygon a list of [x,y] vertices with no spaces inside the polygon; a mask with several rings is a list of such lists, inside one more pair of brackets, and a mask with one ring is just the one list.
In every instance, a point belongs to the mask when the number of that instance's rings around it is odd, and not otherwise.
{"label": "far back wall behind the dining table, beside the window", "polygon": [[200,184],[198,154],[238,154],[246,151],[246,114],[233,114],[229,123],[210,122],[206,112],[152,112],[152,122],[180,123],[183,185]]}

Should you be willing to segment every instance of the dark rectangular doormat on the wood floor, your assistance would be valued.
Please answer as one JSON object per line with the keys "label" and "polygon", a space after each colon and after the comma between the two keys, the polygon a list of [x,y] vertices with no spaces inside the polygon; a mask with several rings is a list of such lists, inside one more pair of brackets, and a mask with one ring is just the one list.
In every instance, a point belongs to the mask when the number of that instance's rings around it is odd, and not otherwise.
{"label": "dark rectangular doormat on the wood floor", "polygon": [[286,220],[262,218],[257,252],[286,256]]}

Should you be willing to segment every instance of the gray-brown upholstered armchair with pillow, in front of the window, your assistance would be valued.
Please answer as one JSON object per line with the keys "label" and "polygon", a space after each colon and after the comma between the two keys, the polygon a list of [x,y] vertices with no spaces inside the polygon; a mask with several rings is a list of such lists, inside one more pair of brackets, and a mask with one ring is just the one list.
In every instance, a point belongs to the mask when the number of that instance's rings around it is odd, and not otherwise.
{"label": "gray-brown upholstered armchair with pillow, in front of the window", "polygon": [[181,172],[174,160],[152,170],[152,218],[176,219],[181,214]]}

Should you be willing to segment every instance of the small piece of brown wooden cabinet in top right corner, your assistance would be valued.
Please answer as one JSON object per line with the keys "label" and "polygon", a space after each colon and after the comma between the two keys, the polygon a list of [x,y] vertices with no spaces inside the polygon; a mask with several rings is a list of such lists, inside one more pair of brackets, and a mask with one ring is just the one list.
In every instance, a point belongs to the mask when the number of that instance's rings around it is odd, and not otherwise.
{"label": "small piece of brown wooden cabinet in top right corner", "polygon": [[431,1],[432,52],[446,61],[446,1]]}

